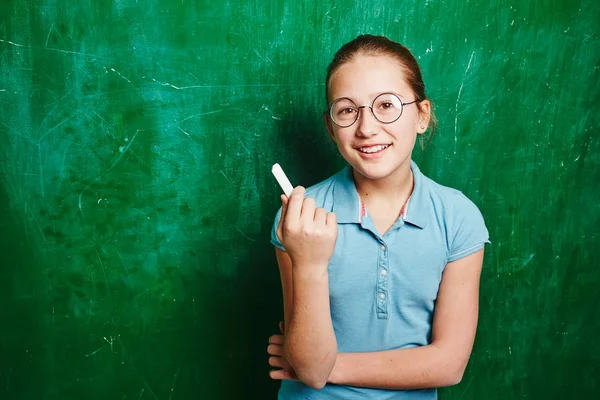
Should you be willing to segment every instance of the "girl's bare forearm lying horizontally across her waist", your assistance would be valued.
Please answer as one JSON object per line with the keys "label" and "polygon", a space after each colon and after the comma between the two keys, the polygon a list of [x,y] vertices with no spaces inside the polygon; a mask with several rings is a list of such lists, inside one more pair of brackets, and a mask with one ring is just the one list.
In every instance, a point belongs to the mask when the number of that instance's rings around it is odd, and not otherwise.
{"label": "girl's bare forearm lying horizontally across her waist", "polygon": [[329,382],[390,390],[455,385],[468,357],[435,344],[373,353],[339,353]]}

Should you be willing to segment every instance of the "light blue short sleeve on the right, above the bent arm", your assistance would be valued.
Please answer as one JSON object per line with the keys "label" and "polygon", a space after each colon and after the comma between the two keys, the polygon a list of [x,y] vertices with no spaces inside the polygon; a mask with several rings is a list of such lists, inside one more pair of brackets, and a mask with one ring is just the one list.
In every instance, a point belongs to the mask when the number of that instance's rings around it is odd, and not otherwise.
{"label": "light blue short sleeve on the right, above the bent arm", "polygon": [[481,212],[462,193],[454,203],[450,228],[448,262],[471,255],[490,243],[489,233]]}

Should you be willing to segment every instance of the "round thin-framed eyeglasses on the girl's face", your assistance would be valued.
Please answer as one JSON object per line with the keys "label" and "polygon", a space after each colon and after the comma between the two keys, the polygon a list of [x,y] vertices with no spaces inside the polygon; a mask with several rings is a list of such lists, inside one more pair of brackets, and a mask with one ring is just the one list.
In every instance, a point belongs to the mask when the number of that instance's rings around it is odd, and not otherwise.
{"label": "round thin-framed eyeglasses on the girl's face", "polygon": [[329,117],[340,128],[347,128],[358,120],[358,110],[368,108],[373,117],[382,124],[396,122],[402,115],[404,106],[416,103],[417,100],[403,103],[394,93],[382,93],[375,97],[371,106],[357,106],[347,97],[336,99],[329,107]]}

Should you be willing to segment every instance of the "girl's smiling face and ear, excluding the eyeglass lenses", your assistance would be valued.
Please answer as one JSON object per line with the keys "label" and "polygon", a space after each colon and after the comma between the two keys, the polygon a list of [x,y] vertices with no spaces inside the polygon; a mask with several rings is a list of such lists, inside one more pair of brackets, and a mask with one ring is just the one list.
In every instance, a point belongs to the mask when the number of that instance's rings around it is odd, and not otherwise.
{"label": "girl's smiling face and ear, excluding the eyeglass lenses", "polygon": [[[416,100],[398,61],[390,56],[357,55],[329,81],[330,104],[347,97],[358,107],[370,107],[381,93],[395,93],[403,103]],[[424,133],[429,123],[429,108],[427,100],[421,102],[422,112],[416,103],[405,105],[401,117],[390,124],[376,120],[369,108],[361,108],[358,120],[349,127],[337,126],[329,115],[325,123],[342,157],[356,172],[368,179],[382,179],[410,168],[417,134]]]}

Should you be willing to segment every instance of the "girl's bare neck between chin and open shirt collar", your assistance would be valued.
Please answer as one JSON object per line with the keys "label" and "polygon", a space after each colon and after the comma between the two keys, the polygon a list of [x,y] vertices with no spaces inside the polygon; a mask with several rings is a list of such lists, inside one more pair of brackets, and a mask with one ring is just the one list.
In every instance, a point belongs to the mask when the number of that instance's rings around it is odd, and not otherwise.
{"label": "girl's bare neck between chin and open shirt collar", "polygon": [[369,179],[356,170],[353,170],[353,176],[356,190],[365,202],[401,203],[401,207],[413,190],[414,177],[410,159],[385,178]]}

